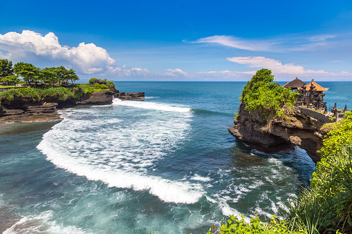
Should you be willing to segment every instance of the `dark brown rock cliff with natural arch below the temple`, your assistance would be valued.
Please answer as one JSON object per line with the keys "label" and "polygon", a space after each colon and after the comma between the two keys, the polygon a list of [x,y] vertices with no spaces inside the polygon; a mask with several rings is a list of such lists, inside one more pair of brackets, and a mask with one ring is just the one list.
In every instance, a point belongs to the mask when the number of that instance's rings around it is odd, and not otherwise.
{"label": "dark brown rock cliff with natural arch below the temple", "polygon": [[271,126],[266,126],[258,115],[252,115],[245,110],[245,104],[239,106],[239,116],[234,120],[234,126],[228,128],[231,135],[249,144],[252,148],[275,153],[298,146],[306,150],[313,162],[319,162],[322,139],[328,130],[322,130],[323,123],[295,109],[293,116],[285,121],[274,120]]}

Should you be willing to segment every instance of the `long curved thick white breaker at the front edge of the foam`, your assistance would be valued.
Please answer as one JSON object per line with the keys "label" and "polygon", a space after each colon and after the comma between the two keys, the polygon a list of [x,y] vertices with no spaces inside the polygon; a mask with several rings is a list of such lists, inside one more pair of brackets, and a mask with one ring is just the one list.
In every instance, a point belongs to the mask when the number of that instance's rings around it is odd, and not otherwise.
{"label": "long curved thick white breaker at the front edge of the foam", "polygon": [[85,158],[70,157],[58,153],[51,148],[50,142],[44,139],[38,146],[39,150],[59,168],[84,176],[94,181],[102,181],[111,187],[132,188],[136,191],[149,190],[165,202],[192,204],[203,195],[201,186],[189,182],[174,182],[161,177],[144,175],[142,173],[125,173],[104,165],[91,165]]}

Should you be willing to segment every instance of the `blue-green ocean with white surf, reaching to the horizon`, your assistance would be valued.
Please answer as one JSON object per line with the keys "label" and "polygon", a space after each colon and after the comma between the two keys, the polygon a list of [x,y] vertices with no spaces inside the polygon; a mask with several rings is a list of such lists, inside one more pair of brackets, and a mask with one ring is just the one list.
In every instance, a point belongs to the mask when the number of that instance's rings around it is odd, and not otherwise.
{"label": "blue-green ocean with white surf, reaching to the horizon", "polygon": [[[351,108],[351,82],[318,83],[328,107]],[[115,84],[146,98],[0,126],[0,231],[206,233],[230,214],[279,215],[309,186],[304,150],[261,153],[228,133],[246,82]]]}

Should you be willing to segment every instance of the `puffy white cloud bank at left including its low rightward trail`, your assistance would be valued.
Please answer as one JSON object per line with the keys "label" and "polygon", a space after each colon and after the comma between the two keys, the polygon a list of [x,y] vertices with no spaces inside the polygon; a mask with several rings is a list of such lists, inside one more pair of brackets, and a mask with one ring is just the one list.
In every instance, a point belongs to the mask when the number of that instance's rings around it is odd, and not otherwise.
{"label": "puffy white cloud bank at left including its low rightward trail", "polygon": [[53,32],[48,32],[44,36],[30,30],[0,34],[0,58],[30,62],[33,56],[73,68],[82,74],[109,76],[111,79],[114,77],[163,79],[187,76],[187,72],[179,68],[167,69],[166,72],[149,72],[145,68],[116,66],[115,60],[104,48],[84,42],[77,47],[62,46]]}

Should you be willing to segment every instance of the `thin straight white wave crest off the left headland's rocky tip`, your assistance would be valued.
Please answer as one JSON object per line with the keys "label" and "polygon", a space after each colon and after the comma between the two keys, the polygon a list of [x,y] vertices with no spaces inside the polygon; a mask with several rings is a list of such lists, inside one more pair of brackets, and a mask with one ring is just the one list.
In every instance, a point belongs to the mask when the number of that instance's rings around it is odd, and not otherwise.
{"label": "thin straight white wave crest off the left headland's rocky tip", "polygon": [[170,106],[167,104],[157,104],[149,101],[121,101],[120,99],[113,99],[113,105],[116,106],[132,106],[135,108],[143,108],[150,110],[161,110],[161,111],[175,111],[180,113],[187,113],[191,108]]}

